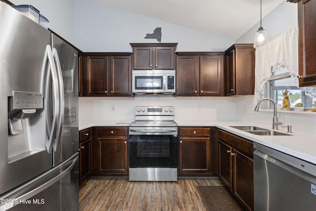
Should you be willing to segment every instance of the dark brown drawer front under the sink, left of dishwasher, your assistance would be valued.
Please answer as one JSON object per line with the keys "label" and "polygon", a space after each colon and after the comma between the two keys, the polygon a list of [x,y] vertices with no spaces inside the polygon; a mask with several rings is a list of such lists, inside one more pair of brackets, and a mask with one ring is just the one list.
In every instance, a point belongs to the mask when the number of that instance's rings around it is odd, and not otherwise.
{"label": "dark brown drawer front under the sink, left of dishwasher", "polygon": [[237,148],[251,157],[253,156],[253,144],[251,141],[248,141],[246,139],[240,138],[236,135],[230,134],[228,132],[225,132],[223,130],[219,130],[219,138],[226,143],[230,144],[234,148]]}

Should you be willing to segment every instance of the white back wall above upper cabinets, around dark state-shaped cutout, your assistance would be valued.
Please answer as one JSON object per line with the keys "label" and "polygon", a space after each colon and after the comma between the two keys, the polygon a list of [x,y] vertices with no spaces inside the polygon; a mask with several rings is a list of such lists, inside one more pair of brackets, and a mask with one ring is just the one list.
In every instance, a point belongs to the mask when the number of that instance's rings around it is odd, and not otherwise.
{"label": "white back wall above upper cabinets, around dark state-shaped cutout", "polygon": [[234,41],[118,9],[94,0],[75,1],[76,46],[85,52],[131,52],[131,42],[161,27],[161,42],[178,43],[177,51],[224,51]]}

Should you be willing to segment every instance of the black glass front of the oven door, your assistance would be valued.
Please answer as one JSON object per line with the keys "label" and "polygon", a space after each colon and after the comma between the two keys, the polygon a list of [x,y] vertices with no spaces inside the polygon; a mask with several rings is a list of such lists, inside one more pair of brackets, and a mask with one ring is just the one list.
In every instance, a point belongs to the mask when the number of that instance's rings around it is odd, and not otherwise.
{"label": "black glass front of the oven door", "polygon": [[177,144],[173,135],[130,135],[129,167],[177,167]]}

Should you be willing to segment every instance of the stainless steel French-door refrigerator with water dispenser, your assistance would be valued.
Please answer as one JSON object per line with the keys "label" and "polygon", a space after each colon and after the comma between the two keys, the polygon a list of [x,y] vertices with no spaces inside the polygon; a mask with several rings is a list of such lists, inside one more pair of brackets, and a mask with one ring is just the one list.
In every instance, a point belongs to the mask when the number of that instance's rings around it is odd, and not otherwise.
{"label": "stainless steel French-door refrigerator with water dispenser", "polygon": [[79,210],[78,52],[0,2],[0,211]]}

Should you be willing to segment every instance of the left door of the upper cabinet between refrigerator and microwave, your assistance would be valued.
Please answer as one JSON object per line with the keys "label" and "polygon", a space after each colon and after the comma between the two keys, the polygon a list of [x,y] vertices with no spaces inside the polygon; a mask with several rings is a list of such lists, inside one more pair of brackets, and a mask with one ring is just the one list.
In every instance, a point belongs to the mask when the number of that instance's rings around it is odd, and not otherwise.
{"label": "left door of the upper cabinet between refrigerator and microwave", "polygon": [[108,56],[87,57],[87,95],[108,95]]}

